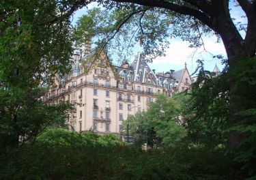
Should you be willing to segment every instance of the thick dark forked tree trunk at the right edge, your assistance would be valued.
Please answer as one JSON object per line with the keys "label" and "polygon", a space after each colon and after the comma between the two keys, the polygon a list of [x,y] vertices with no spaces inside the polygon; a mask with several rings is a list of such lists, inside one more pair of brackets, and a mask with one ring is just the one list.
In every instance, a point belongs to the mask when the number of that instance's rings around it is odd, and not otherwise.
{"label": "thick dark forked tree trunk at the right edge", "polygon": [[[238,61],[243,61],[244,58],[255,56],[255,42],[256,42],[256,28],[255,28],[255,11],[251,12],[251,16],[248,17],[248,28],[246,32],[245,40],[242,39],[240,33],[236,29],[235,25],[231,21],[230,15],[227,14],[227,10],[223,6],[223,10],[220,7],[215,13],[216,15],[216,31],[221,35],[225,50],[227,52],[229,74],[233,74],[233,71],[238,67]],[[246,110],[248,107],[244,107],[240,104],[240,94],[233,93],[233,89],[236,88],[235,77],[229,77],[229,127],[236,125],[239,119],[236,117],[236,113],[242,110]],[[230,149],[236,148],[240,145],[245,138],[244,134],[239,132],[230,132],[227,136],[227,145]]]}

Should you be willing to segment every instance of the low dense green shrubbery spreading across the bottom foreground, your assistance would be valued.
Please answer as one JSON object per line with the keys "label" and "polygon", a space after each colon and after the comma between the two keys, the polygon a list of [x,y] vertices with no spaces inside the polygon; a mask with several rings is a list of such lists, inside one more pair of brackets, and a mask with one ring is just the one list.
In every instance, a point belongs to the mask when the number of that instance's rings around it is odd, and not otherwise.
{"label": "low dense green shrubbery spreading across the bottom foreground", "polygon": [[115,136],[61,129],[0,160],[0,179],[242,179],[222,149],[141,151]]}

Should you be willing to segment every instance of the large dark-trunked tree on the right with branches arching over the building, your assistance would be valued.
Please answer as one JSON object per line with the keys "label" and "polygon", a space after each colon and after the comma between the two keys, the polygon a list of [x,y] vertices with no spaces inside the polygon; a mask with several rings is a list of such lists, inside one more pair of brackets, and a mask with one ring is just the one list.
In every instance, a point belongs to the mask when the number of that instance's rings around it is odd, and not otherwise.
{"label": "large dark-trunked tree on the right with branches arching over the building", "polygon": [[[244,38],[240,35],[240,28],[234,25],[229,14],[231,1],[228,0],[98,0],[97,2],[108,12],[104,12],[102,20],[98,18],[98,15],[97,18],[93,16],[95,13],[89,12],[88,16],[91,22],[94,22],[91,26],[100,28],[100,31],[96,33],[94,31],[93,34],[98,35],[97,44],[109,52],[113,52],[113,48],[118,49],[117,45],[122,42],[129,42],[126,43],[126,47],[132,46],[129,39],[134,38],[136,41],[143,41],[145,55],[147,59],[152,60],[158,55],[164,55],[165,48],[169,45],[168,37],[181,37],[182,40],[190,42],[190,46],[198,47],[203,46],[202,35],[207,34],[216,35],[223,41],[228,57],[225,62],[228,74],[238,72],[240,68],[238,64],[245,62],[244,59],[255,58],[256,1],[237,1],[248,19],[247,26],[242,26],[242,29],[246,31]],[[77,27],[79,32],[81,32],[80,27],[83,27],[83,21],[83,18],[79,20]],[[86,33],[83,33],[83,36],[91,37],[90,31],[84,30]],[[124,47],[116,51],[122,54],[123,49]],[[229,92],[227,121],[230,126],[233,126],[240,121],[236,114],[253,106],[241,104],[240,94],[234,91],[236,78],[229,76],[226,80]],[[244,139],[244,136],[236,131],[230,132],[228,136],[228,144],[231,148],[240,145],[241,140]]]}

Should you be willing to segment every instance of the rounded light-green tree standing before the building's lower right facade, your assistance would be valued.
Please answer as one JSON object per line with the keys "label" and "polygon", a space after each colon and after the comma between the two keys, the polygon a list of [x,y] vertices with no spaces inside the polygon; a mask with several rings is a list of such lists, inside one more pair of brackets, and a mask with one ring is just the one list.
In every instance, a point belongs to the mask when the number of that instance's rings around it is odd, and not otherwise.
{"label": "rounded light-green tree standing before the building's lower right facade", "polygon": [[162,94],[158,95],[147,112],[128,119],[132,138],[138,145],[147,142],[152,148],[175,147],[186,136],[180,113],[180,102]]}

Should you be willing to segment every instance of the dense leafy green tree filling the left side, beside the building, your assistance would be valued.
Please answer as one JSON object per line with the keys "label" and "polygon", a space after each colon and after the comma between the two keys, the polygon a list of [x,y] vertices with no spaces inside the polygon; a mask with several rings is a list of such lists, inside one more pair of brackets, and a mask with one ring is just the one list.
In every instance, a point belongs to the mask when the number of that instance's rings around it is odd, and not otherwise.
{"label": "dense leafy green tree filling the left side, beside the building", "polygon": [[0,2],[1,147],[33,140],[63,123],[67,104],[44,104],[46,84],[70,69],[70,16],[86,1]]}

